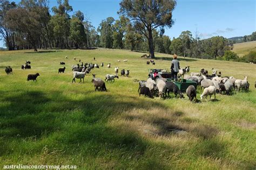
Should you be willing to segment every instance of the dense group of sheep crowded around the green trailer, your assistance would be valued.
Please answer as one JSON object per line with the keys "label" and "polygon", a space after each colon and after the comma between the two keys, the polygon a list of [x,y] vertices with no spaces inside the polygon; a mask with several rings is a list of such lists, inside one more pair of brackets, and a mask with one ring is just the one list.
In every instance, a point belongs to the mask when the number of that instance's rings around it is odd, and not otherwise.
{"label": "dense group of sheep crowded around the green trailer", "polygon": [[[179,70],[179,77],[183,76],[186,80],[194,81],[198,84],[200,92],[202,88],[204,88],[203,93],[201,93],[200,98],[207,98],[207,96],[214,95],[214,100],[216,98],[216,93],[230,95],[232,90],[239,91],[240,89],[244,89],[248,91],[250,87],[250,83],[248,83],[248,76],[245,76],[244,80],[235,79],[233,76],[225,76],[221,77],[221,72],[217,75],[217,70],[212,68],[212,74],[208,75],[208,71],[205,69],[201,69],[199,73],[191,73],[187,75],[185,73],[189,73],[190,66],[187,66],[184,69]],[[162,72],[166,72],[166,70],[162,70]],[[255,83],[256,88],[256,83]],[[167,79],[161,77],[161,75],[156,75],[155,77],[149,77],[146,81],[139,81],[139,89],[138,93],[140,95],[146,95],[149,97],[153,97],[153,95],[159,96],[160,98],[167,96],[166,93],[172,92],[177,97],[179,95],[180,98],[183,98],[183,93],[179,90],[177,84],[172,81],[167,81]],[[196,99],[197,89],[194,86],[189,86],[186,89],[186,94],[190,101]],[[170,96],[170,95],[169,95]]]}

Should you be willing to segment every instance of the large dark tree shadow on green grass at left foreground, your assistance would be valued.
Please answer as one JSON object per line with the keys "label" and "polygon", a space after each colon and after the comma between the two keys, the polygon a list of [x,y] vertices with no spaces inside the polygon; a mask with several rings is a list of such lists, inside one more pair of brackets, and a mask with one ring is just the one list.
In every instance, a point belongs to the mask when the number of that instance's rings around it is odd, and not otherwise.
{"label": "large dark tree shadow on green grass at left foreground", "polygon": [[[107,120],[110,116],[118,116],[131,109],[166,107],[153,101],[141,101],[137,97],[126,98],[127,101],[124,102],[110,94],[95,93],[80,100],[72,100],[60,91],[48,94],[28,91],[3,96],[0,98],[0,101],[2,99],[5,102],[0,106],[0,136],[3,137],[0,155],[11,154],[14,151],[8,148],[18,147],[12,146],[10,140],[19,141],[31,137],[41,140],[42,137],[51,136],[55,136],[55,139],[48,146],[54,148],[64,147],[77,151],[79,144],[87,145],[88,149],[93,148],[94,152],[90,153],[92,155],[117,148],[131,155],[143,154],[147,146],[146,140],[129,129],[120,132],[118,128],[111,128]],[[23,148],[23,152],[27,149]]]}

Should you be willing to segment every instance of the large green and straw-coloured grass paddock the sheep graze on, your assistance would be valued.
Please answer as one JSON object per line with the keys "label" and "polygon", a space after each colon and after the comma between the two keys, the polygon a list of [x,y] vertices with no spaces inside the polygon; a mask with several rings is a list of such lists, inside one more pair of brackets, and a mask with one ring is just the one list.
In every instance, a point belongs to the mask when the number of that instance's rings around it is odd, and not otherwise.
{"label": "large green and straw-coloured grass paddock the sheep graze on", "polygon": [[[65,59],[65,56],[68,59]],[[0,52],[0,168],[4,165],[77,165],[79,169],[255,169],[256,66],[180,58],[191,72],[215,68],[223,76],[249,76],[248,93],[217,95],[217,101],[154,99],[138,95],[146,80],[143,53],[117,49]],[[93,61],[95,56],[96,61]],[[171,55],[156,54],[156,68],[170,68]],[[95,92],[92,75],[72,82],[78,61],[111,63],[96,77],[130,69],[130,77]],[[128,62],[120,62],[128,59]],[[31,70],[22,70],[25,60]],[[60,61],[66,63],[58,74]],[[12,66],[14,74],[4,68]],[[39,73],[37,82],[26,81]],[[199,92],[197,98],[199,99]]]}

